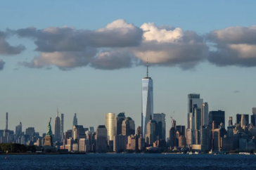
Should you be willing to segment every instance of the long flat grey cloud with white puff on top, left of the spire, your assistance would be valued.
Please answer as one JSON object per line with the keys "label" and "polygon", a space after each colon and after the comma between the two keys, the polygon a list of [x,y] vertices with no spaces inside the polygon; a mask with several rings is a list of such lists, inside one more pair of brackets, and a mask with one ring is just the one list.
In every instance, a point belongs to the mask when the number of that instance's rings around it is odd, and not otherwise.
{"label": "long flat grey cloud with white puff on top, left of the spire", "polygon": [[141,44],[143,31],[125,20],[115,20],[98,30],[74,27],[35,27],[12,31],[19,37],[30,37],[41,52],[83,51],[89,47],[128,47]]}

